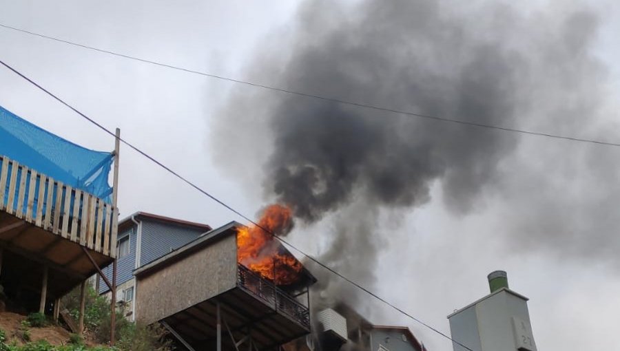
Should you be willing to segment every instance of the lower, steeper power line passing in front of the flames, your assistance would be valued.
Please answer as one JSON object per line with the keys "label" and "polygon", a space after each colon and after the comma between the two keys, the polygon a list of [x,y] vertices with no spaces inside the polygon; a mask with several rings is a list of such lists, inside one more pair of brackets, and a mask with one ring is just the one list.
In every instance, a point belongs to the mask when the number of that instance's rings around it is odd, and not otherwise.
{"label": "lower, steeper power line passing in front of the flames", "polygon": [[[72,105],[66,103],[64,100],[62,100],[61,98],[59,98],[58,96],[52,94],[52,92],[50,92],[48,89],[45,89],[44,87],[41,87],[41,85],[35,83],[34,81],[32,81],[32,79],[28,78],[27,76],[21,74],[21,72],[15,70],[13,67],[11,67],[10,65],[7,65],[6,63],[4,63],[3,61],[0,61],[0,64],[7,67],[9,70],[11,70],[12,72],[14,72],[15,74],[21,76],[21,78],[25,79],[26,81],[28,81],[29,83],[31,83],[32,85],[34,85],[35,87],[38,87],[39,89],[41,89],[43,92],[45,92],[45,94],[48,94],[49,96],[51,96],[52,98],[54,98],[55,100],[59,101],[59,103],[65,105],[66,107],[69,107],[70,109],[72,109],[72,111],[74,111],[76,114],[79,114],[82,118],[85,118],[87,121],[89,121],[90,123],[96,125],[96,127],[99,127],[99,129],[105,131],[105,133],[110,134],[111,136],[114,136],[114,138],[116,138],[116,134],[103,127],[103,125],[99,124],[96,122],[96,120],[93,120],[92,118],[86,116],[85,114],[83,114],[81,111],[79,111],[78,109],[76,109],[75,107],[73,107]],[[261,226],[260,224],[258,224],[256,221],[251,220],[249,217],[247,217],[246,215],[242,214],[240,211],[237,211],[236,209],[234,209],[233,207],[229,206],[228,204],[226,204],[225,202],[223,202],[222,200],[219,200],[218,198],[216,198],[214,195],[211,195],[210,193],[208,193],[207,191],[205,191],[204,189],[198,187],[198,185],[194,184],[193,182],[187,180],[187,178],[183,177],[183,175],[180,175],[179,173],[177,173],[176,171],[173,171],[172,169],[170,169],[169,167],[167,167],[165,164],[163,164],[162,162],[156,160],[155,158],[153,158],[152,156],[150,156],[149,154],[145,153],[145,151],[142,151],[141,149],[138,149],[138,147],[132,145],[130,142],[127,142],[127,140],[124,140],[123,138],[118,138],[121,142],[123,142],[123,144],[127,145],[128,147],[130,147],[131,149],[133,149],[134,151],[138,152],[139,154],[141,154],[142,156],[144,156],[145,158],[151,160],[152,162],[154,162],[155,164],[157,164],[159,167],[162,167],[163,169],[165,169],[166,171],[168,171],[169,173],[172,173],[172,175],[176,176],[176,178],[183,180],[183,182],[185,182],[186,184],[189,184],[190,187],[196,189],[197,191],[200,191],[200,193],[203,193],[204,195],[206,195],[207,197],[209,197],[211,200],[214,200],[215,202],[217,202],[218,204],[224,206],[226,209],[228,209],[229,211],[235,213],[236,215],[238,215],[239,217],[243,218],[244,220],[247,220],[247,222],[250,222],[251,224],[253,224],[254,226],[260,228],[262,231],[265,231],[265,233],[271,235],[272,237],[275,237],[276,239],[280,240],[280,242],[286,244],[287,246],[293,248],[295,251],[297,251],[298,253],[300,253],[301,255],[303,255],[304,257],[307,257],[308,259],[310,259],[312,262],[318,264],[319,266],[321,266],[324,269],[327,269],[329,272],[333,273],[334,275],[340,277],[340,279],[343,279],[344,281],[347,281],[349,284],[355,286],[356,288],[366,292],[366,294],[370,295],[371,297],[374,297],[375,299],[378,299],[379,301],[381,301],[382,303],[386,304],[387,306],[390,306],[391,308],[393,308],[394,310],[396,310],[397,312],[402,313],[402,315],[409,317],[410,319],[412,319],[413,321],[416,321],[417,323],[420,323],[422,326],[428,328],[429,330],[432,330],[433,332],[440,334],[442,337],[453,341],[453,343],[456,343],[457,345],[462,346],[463,348],[465,348],[468,351],[474,351],[471,348],[468,348],[466,345],[463,345],[462,343],[460,343],[459,341],[456,341],[455,339],[452,339],[452,337],[448,336],[447,334],[445,334],[444,332],[441,332],[440,330],[437,330],[437,328],[434,328],[433,326],[429,325],[428,323],[425,323],[424,321],[422,321],[421,319],[417,319],[416,317],[414,317],[413,315],[409,314],[408,312],[405,312],[404,310],[402,310],[401,308],[395,306],[394,304],[392,304],[391,302],[387,301],[386,299],[380,297],[379,295],[375,294],[375,292],[372,292],[371,290],[364,288],[364,286],[361,286],[360,284],[356,283],[355,281],[345,277],[344,275],[338,273],[338,271],[334,270],[333,268],[330,268],[329,266],[327,266],[327,264],[323,264],[322,262],[320,262],[318,259],[314,258],[313,256],[305,253],[304,251],[300,250],[299,248],[297,248],[296,246],[293,246],[293,244],[291,244],[290,242],[288,242],[287,240],[285,240],[284,238],[280,237],[280,235],[276,235],[276,233],[273,233],[272,231],[270,231],[268,228],[265,228],[264,226]]]}

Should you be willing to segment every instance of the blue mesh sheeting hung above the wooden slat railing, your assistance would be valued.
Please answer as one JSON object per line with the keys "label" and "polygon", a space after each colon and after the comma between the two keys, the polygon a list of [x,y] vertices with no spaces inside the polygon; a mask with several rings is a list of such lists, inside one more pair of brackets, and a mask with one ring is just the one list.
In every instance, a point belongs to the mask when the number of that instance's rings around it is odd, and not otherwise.
{"label": "blue mesh sheeting hung above the wooden slat railing", "polygon": [[107,178],[112,153],[75,145],[1,106],[0,155],[111,203],[112,187]]}

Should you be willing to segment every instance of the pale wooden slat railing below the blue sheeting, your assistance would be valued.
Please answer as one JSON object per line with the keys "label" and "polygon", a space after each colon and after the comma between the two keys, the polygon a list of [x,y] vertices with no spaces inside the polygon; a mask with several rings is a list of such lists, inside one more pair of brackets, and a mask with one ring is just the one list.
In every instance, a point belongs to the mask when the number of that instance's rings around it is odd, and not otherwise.
{"label": "pale wooden slat railing below the blue sheeting", "polygon": [[116,257],[118,209],[112,204],[6,156],[0,164],[0,211]]}

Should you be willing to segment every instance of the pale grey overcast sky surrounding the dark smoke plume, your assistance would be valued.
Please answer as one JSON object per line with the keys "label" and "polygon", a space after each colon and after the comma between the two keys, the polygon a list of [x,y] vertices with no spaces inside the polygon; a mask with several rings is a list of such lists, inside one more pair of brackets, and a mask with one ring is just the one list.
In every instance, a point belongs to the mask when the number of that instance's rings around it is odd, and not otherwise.
{"label": "pale grey overcast sky surrounding the dark smoke plume", "polygon": [[[561,18],[572,10],[557,6],[563,1],[528,2],[519,6],[550,16],[543,19],[554,19],[555,14]],[[319,3],[324,12],[331,10],[327,1]],[[0,0],[0,23],[192,70],[280,85],[284,79],[277,76],[273,62],[276,56],[285,60],[295,55],[292,47],[289,50],[278,40],[295,40],[291,33],[307,20],[298,15],[301,4]],[[486,6],[484,1],[475,4]],[[596,98],[588,100],[588,109],[579,111],[579,118],[551,116],[555,105],[545,105],[549,110],[530,108],[528,113],[537,118],[519,127],[620,142],[618,105],[613,98],[620,89],[620,7],[603,0],[588,8],[596,14],[590,54],[599,64],[600,76],[588,78],[597,83]],[[579,37],[579,32],[573,35]],[[0,28],[0,47],[1,60],[105,127],[120,127],[123,138],[242,213],[254,216],[273,200],[263,188],[269,145],[247,147],[247,140],[260,139],[262,133],[269,138],[267,120],[231,116],[230,123],[223,123],[223,119],[228,118],[227,111],[235,111],[231,103],[247,101],[239,96],[278,93],[256,92],[255,87],[5,28]],[[262,60],[269,58],[271,63],[263,66]],[[293,89],[305,86],[287,83]],[[6,69],[0,69],[0,105],[80,145],[114,148],[112,138]],[[535,136],[516,138],[514,152],[497,164],[499,180],[476,198],[469,206],[472,209],[455,211],[446,204],[440,179],[430,184],[431,200],[415,211],[382,209],[385,225],[375,233],[382,240],[375,241],[381,247],[372,288],[448,333],[446,315],[486,295],[486,275],[504,269],[510,287],[530,298],[539,350],[617,349],[620,242],[613,233],[619,228],[620,148]],[[120,166],[121,217],[147,211],[211,226],[241,221],[127,147],[121,149]],[[320,254],[329,245],[329,239],[322,237],[330,226],[329,217],[343,213],[330,213],[316,225],[298,226],[291,241]],[[446,339],[371,297],[366,299],[373,322],[404,324],[429,350],[451,350]]]}

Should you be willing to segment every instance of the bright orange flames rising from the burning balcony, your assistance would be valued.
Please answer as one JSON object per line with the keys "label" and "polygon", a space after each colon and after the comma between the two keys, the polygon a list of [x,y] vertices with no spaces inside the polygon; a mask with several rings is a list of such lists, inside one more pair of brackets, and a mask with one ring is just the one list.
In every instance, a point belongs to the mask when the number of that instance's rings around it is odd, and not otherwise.
{"label": "bright orange flames rising from the burning balcony", "polygon": [[[272,204],[265,209],[258,224],[271,233],[286,234],[293,227],[293,213],[287,206]],[[262,228],[237,229],[237,261],[278,285],[293,284],[299,279],[302,264]]]}

